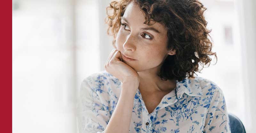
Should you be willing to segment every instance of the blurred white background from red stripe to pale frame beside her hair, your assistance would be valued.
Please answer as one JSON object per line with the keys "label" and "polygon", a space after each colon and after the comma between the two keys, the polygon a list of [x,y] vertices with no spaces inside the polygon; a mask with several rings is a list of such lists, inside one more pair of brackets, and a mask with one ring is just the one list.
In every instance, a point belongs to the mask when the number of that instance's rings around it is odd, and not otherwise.
{"label": "blurred white background from red stripe to pale frame beside her hair", "polygon": [[77,132],[81,82],[100,71],[98,1],[12,3],[13,133]]}

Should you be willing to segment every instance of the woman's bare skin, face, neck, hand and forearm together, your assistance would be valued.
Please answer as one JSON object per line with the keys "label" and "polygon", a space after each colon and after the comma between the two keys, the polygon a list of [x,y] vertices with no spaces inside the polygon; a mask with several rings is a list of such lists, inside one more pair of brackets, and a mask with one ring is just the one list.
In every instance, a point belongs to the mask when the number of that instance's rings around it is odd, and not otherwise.
{"label": "woman's bare skin, face, neck, hand and forearm together", "polygon": [[[151,26],[143,24],[143,13],[133,4],[128,5],[123,17],[128,22],[122,20],[122,23],[127,26],[120,27],[115,49],[112,50],[105,64],[106,71],[122,82],[120,98],[105,133],[129,133],[137,88],[150,114],[164,95],[176,87],[176,81],[163,81],[157,76],[164,59],[168,55],[176,54],[175,51],[166,49],[167,31],[164,26],[159,23]],[[140,29],[145,27],[154,27],[160,33]],[[152,40],[144,39],[149,38],[148,35]],[[126,61],[122,53],[136,60]],[[122,118],[121,123],[120,118]]]}

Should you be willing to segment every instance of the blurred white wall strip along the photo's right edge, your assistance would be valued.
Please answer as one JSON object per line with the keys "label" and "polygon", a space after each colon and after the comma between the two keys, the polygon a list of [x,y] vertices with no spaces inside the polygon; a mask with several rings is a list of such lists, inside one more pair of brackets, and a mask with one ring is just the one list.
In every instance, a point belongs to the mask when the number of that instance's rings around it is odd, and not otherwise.
{"label": "blurred white wall strip along the photo's right edge", "polygon": [[[256,1],[236,0],[236,10],[238,12],[240,26],[240,43],[242,51],[243,69],[243,89],[245,97],[245,119],[244,126],[248,133],[255,132],[256,114]],[[240,109],[240,108],[238,108]]]}

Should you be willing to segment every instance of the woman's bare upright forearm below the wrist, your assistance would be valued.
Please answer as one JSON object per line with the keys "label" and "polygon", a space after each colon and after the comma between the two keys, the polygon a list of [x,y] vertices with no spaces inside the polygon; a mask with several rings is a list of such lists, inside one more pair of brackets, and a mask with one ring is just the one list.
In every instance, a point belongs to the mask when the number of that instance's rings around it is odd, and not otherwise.
{"label": "woman's bare upright forearm below the wrist", "polygon": [[121,94],[116,108],[108,122],[104,133],[128,133],[132,118],[132,108],[134,102],[134,87],[122,85]]}

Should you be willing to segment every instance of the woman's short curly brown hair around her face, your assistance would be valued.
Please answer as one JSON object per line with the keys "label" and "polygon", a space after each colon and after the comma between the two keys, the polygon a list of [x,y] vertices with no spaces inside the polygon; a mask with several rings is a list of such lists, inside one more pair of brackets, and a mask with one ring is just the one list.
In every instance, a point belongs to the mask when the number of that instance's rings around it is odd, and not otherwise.
{"label": "woman's short curly brown hair around her face", "polygon": [[[145,16],[144,24],[152,25],[156,22],[164,25],[168,36],[168,50],[176,50],[175,55],[168,55],[161,66],[158,76],[162,80],[182,81],[186,77],[195,78],[204,65],[210,66],[211,58],[216,57],[212,52],[212,40],[206,25],[204,11],[207,9],[198,0],[120,0],[111,1],[107,7],[108,35],[114,37],[121,26],[121,17],[128,4],[136,4]],[[153,22],[153,23],[151,23]],[[209,38],[210,39],[209,39]],[[215,63],[215,64],[216,64]],[[199,64],[202,69],[198,69]],[[214,65],[215,65],[214,64]],[[196,74],[197,75],[197,74]]]}

